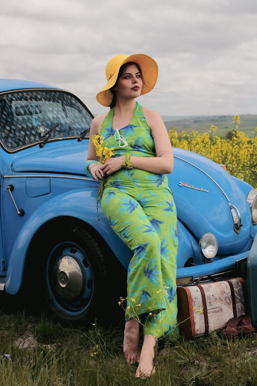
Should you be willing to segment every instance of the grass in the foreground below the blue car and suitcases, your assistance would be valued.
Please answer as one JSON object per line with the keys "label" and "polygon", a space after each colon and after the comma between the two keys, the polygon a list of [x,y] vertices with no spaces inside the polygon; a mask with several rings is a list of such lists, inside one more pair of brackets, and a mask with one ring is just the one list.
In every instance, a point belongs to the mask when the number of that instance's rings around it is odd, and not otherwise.
{"label": "grass in the foreground below the blue car and suitcases", "polygon": [[[123,326],[63,326],[0,311],[0,386],[257,385],[257,337],[160,341],[157,373],[136,379],[122,354]],[[7,357],[8,355],[9,357]]]}

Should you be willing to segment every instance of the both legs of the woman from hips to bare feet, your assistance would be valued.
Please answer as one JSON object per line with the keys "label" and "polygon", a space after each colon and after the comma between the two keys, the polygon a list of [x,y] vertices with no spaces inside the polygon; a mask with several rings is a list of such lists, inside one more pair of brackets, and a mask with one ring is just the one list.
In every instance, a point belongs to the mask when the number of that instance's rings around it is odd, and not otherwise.
{"label": "both legs of the woman from hips to bare feet", "polygon": [[139,329],[134,318],[139,317],[144,325],[144,343],[136,376],[155,371],[156,338],[174,329],[177,315],[176,208],[167,189],[157,189],[153,200],[146,189],[148,199],[143,196],[141,191],[141,206],[130,195],[112,188],[104,190],[101,202],[114,231],[134,252],[127,275],[124,354],[129,363],[138,360]]}

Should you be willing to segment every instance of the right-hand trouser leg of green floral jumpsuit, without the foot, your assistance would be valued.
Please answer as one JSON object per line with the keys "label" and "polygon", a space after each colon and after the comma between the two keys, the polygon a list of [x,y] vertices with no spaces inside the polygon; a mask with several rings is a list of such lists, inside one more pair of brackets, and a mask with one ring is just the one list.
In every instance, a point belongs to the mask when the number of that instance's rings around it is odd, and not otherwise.
{"label": "right-hand trouser leg of green floral jumpsuit, without the foot", "polygon": [[[171,334],[177,324],[176,254],[177,215],[169,189],[151,190],[152,200],[143,205],[143,210],[153,224],[161,242],[161,273],[163,286],[160,293],[158,314],[149,313],[144,318],[144,334],[158,338]],[[149,197],[148,192],[146,196]]]}

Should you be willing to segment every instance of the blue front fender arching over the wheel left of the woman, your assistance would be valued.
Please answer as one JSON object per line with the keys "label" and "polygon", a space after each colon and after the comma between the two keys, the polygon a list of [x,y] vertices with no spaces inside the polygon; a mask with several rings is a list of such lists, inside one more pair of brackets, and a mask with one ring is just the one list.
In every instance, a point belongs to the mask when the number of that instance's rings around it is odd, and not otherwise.
{"label": "blue front fender arching over the wheel left of the woman", "polygon": [[[86,207],[85,211],[83,207]],[[27,251],[35,233],[48,221],[62,216],[75,217],[92,226],[107,242],[121,264],[123,266],[127,264],[127,255],[131,255],[131,251],[111,229],[102,214],[100,205],[98,220],[96,199],[91,189],[76,189],[69,194],[64,192],[62,195],[55,196],[39,206],[21,228],[8,262],[5,283],[7,293],[16,294],[21,288]]]}

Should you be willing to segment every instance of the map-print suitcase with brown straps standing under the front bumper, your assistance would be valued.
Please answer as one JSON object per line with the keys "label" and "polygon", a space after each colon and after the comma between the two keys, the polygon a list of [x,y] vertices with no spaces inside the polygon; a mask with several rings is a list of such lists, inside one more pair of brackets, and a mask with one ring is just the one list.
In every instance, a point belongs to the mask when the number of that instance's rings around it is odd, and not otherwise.
{"label": "map-print suitcase with brown straps standing under the front bumper", "polygon": [[178,323],[187,338],[225,328],[231,318],[245,314],[244,279],[194,284],[177,288]]}

